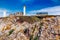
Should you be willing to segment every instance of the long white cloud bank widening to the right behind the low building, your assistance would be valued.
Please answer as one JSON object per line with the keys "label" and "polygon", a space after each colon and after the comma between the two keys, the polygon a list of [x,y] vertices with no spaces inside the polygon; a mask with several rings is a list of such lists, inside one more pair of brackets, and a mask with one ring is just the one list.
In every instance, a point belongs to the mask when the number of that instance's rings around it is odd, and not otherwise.
{"label": "long white cloud bank widening to the right behind the low building", "polygon": [[60,15],[60,6],[34,10],[34,11],[30,11],[29,13],[37,13],[37,12],[48,12],[49,15]]}

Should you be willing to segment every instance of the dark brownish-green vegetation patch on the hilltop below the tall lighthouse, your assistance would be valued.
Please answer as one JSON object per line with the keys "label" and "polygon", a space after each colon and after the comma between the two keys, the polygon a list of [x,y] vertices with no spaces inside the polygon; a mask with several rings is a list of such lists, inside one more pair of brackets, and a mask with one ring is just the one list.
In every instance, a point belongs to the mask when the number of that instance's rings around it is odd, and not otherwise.
{"label": "dark brownish-green vegetation patch on the hilltop below the tall lighthouse", "polygon": [[40,21],[39,18],[35,17],[35,16],[19,16],[19,22],[23,22],[23,21],[26,21],[28,23],[34,23],[34,22],[37,22],[37,21]]}

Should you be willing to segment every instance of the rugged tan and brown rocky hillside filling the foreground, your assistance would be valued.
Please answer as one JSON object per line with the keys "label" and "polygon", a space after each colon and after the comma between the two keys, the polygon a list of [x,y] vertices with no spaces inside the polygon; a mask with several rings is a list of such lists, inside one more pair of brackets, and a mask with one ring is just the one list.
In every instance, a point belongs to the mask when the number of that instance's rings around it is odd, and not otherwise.
{"label": "rugged tan and brown rocky hillside filling the foreground", "polygon": [[60,40],[60,17],[2,18],[0,40]]}

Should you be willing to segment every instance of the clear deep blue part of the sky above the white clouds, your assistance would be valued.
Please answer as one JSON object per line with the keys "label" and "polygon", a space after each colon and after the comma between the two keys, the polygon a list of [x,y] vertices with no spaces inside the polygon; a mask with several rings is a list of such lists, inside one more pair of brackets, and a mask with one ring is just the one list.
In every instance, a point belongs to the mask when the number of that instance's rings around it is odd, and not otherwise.
{"label": "clear deep blue part of the sky above the white clouds", "polygon": [[[0,10],[7,10],[8,14],[23,11],[26,5],[26,12],[42,10],[60,6],[60,0],[0,0]],[[60,8],[60,7],[59,7]]]}

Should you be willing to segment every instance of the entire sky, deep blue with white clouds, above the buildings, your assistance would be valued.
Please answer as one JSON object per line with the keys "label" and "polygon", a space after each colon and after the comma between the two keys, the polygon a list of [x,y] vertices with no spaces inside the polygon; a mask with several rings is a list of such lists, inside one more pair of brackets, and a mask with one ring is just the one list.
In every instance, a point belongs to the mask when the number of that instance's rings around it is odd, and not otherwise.
{"label": "entire sky, deep blue with white clouds, above the buildings", "polygon": [[0,16],[3,11],[6,11],[7,15],[23,12],[24,5],[26,5],[28,15],[36,12],[48,12],[50,15],[60,14],[60,0],[0,0]]}

